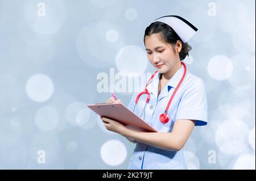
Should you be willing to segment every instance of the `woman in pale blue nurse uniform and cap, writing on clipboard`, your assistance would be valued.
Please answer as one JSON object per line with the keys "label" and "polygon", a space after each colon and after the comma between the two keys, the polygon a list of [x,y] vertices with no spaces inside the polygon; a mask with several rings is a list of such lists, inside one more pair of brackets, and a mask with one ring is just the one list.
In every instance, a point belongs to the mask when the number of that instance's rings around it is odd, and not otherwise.
{"label": "woman in pale blue nurse uniform and cap, writing on clipboard", "polygon": [[[101,117],[106,129],[136,143],[128,169],[187,169],[183,146],[195,126],[207,125],[204,82],[181,62],[196,31],[180,16],[163,16],[145,30],[148,60],[156,71],[127,107],[158,132],[134,131]],[[107,102],[121,100],[112,97]]]}

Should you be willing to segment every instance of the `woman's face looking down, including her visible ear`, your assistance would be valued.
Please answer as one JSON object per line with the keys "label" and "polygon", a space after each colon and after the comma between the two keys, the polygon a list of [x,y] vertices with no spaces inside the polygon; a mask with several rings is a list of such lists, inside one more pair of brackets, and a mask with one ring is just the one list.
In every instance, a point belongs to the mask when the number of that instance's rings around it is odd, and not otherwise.
{"label": "woman's face looking down, including her visible ear", "polygon": [[161,40],[160,33],[153,33],[145,37],[145,47],[147,51],[147,58],[159,73],[166,73],[174,68],[175,64],[180,61],[179,51],[181,43],[179,41],[174,50],[168,43]]}

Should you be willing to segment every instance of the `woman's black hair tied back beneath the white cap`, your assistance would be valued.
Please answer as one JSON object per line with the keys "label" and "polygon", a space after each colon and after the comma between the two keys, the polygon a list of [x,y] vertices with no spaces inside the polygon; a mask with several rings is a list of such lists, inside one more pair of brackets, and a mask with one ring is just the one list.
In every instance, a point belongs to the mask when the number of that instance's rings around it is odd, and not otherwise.
{"label": "woman's black hair tied back beneath the white cap", "polygon": [[182,47],[179,52],[180,60],[184,60],[186,56],[188,56],[188,52],[192,49],[191,45],[188,43],[183,43],[177,33],[172,29],[172,27],[168,26],[168,24],[162,22],[154,22],[148,26],[144,33],[144,45],[145,45],[145,37],[150,36],[153,33],[160,33],[160,36],[164,40],[164,42],[175,45],[177,40],[181,41]]}

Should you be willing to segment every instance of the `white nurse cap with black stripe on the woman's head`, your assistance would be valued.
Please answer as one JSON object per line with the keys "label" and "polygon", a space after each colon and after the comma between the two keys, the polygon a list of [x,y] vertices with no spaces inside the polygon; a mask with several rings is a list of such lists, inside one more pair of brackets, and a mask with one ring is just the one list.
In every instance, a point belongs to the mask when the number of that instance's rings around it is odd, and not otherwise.
{"label": "white nurse cap with black stripe on the woman's head", "polygon": [[184,18],[175,15],[163,16],[156,19],[154,22],[162,22],[172,27],[183,43],[187,43],[198,30],[195,26],[193,26],[193,24],[189,23]]}

